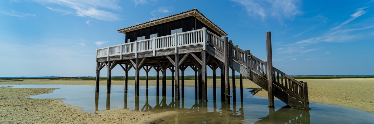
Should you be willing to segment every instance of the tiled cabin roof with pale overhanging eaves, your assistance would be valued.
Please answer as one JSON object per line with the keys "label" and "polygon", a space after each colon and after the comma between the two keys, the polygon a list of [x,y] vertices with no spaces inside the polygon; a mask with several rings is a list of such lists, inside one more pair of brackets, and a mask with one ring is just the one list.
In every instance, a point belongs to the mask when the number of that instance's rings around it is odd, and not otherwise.
{"label": "tiled cabin roof with pale overhanging eaves", "polygon": [[195,16],[196,19],[200,20],[205,25],[209,26],[209,28],[213,29],[215,32],[219,33],[221,36],[227,36],[226,32],[224,32],[220,27],[218,27],[217,25],[215,25],[215,23],[213,23],[211,20],[209,20],[208,18],[206,18],[196,8],[188,10],[186,12],[178,13],[178,14],[175,14],[175,15],[166,16],[164,18],[159,18],[159,19],[156,19],[156,20],[151,20],[149,22],[144,22],[144,23],[141,23],[141,24],[138,24],[138,25],[129,26],[127,28],[119,29],[117,31],[118,31],[118,33],[126,34],[126,32],[130,32],[130,31],[134,31],[134,30],[146,28],[146,27],[153,26],[153,25],[158,25],[158,24],[161,24],[161,23],[171,22],[173,20],[177,20],[177,19],[181,19],[181,18],[186,18],[186,17],[190,17],[190,16]]}

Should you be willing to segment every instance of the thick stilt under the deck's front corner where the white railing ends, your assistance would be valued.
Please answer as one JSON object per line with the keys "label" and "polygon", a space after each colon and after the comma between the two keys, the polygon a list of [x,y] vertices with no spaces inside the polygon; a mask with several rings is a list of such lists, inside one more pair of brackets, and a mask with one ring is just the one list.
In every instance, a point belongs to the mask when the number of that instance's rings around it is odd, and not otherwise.
{"label": "thick stilt under the deck's front corner where the white railing ends", "polygon": [[[206,41],[205,41],[206,42]],[[201,86],[202,86],[202,101],[207,102],[208,97],[207,97],[207,86],[206,86],[206,51],[201,52],[201,73],[202,73],[202,81],[201,81]]]}

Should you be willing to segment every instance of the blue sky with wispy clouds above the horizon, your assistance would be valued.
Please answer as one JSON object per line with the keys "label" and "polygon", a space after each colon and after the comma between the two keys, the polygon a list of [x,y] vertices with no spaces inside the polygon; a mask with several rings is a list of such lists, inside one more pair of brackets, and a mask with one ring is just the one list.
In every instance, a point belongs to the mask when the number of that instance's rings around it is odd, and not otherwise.
{"label": "blue sky with wispy clouds above the horizon", "polygon": [[125,43],[117,29],[193,8],[263,60],[271,31],[273,65],[286,74],[374,75],[373,7],[374,0],[1,0],[0,77],[95,76],[96,48]]}

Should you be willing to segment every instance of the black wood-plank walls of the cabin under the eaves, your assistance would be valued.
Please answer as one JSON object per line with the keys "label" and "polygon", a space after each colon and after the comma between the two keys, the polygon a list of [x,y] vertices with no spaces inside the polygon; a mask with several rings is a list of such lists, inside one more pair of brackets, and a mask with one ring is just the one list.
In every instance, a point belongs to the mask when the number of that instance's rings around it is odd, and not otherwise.
{"label": "black wood-plank walls of the cabin under the eaves", "polygon": [[[196,25],[195,25],[196,23]],[[192,31],[193,29],[201,29],[207,28],[209,31],[218,35],[217,32],[213,31],[211,28],[206,26],[204,23],[200,22],[199,20],[195,19],[193,16],[174,20],[167,23],[162,23],[159,25],[150,26],[147,28],[131,31],[126,33],[126,43],[128,39],[131,42],[137,40],[138,37],[145,36],[145,39],[149,39],[151,34],[156,34],[157,36],[166,36],[171,35],[171,30],[183,28],[183,32]],[[220,36],[220,35],[218,35]]]}

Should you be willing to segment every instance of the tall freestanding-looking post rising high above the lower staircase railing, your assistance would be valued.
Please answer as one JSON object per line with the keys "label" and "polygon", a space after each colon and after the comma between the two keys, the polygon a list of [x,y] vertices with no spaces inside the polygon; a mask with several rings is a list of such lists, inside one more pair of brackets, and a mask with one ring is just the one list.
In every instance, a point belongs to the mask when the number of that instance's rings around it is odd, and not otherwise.
{"label": "tall freestanding-looking post rising high above the lower staircase railing", "polygon": [[266,72],[267,72],[269,108],[274,108],[272,35],[270,32],[266,32],[266,55],[267,55]]}

